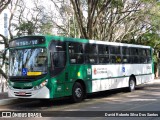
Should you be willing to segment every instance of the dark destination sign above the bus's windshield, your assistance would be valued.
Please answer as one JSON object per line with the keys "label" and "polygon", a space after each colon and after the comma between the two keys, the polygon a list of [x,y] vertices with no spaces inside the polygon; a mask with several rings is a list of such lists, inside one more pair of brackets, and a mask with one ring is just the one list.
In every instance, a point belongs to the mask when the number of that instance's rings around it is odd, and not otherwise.
{"label": "dark destination sign above the bus's windshield", "polygon": [[29,46],[45,43],[44,37],[34,36],[34,37],[21,37],[14,39],[9,43],[9,47],[19,47],[19,46]]}

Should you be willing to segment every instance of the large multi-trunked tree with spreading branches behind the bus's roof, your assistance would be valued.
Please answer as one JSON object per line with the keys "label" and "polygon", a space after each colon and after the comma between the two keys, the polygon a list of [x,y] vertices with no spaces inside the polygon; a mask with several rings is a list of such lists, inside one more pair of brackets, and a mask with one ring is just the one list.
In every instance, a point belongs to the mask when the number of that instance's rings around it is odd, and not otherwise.
{"label": "large multi-trunked tree with spreading branches behind the bus's roof", "polygon": [[[136,0],[70,0],[83,38],[105,41],[135,39],[149,29],[143,14],[149,6]],[[87,13],[87,15],[85,14]]]}

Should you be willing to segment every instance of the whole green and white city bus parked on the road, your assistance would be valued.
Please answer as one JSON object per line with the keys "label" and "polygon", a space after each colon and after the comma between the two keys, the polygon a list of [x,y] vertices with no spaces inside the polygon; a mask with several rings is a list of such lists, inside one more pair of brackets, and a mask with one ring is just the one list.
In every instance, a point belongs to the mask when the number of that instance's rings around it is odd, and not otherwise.
{"label": "whole green and white city bus parked on the road", "polygon": [[24,36],[9,43],[9,97],[80,102],[86,94],[154,79],[150,46],[60,36]]}

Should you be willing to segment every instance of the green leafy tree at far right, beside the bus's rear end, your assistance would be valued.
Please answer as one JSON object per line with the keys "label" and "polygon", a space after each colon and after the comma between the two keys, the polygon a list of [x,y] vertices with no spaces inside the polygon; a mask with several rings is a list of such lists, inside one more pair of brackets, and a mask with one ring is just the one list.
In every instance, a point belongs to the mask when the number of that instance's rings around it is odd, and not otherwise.
{"label": "green leafy tree at far right, beside the bus's rear end", "polygon": [[[146,1],[150,4],[150,1]],[[151,6],[151,4],[150,4]],[[150,23],[150,30],[146,31],[139,38],[140,44],[152,46],[154,49],[154,64],[155,64],[155,77],[159,77],[159,51],[160,51],[160,3],[152,1],[152,9],[147,11],[148,21]]]}

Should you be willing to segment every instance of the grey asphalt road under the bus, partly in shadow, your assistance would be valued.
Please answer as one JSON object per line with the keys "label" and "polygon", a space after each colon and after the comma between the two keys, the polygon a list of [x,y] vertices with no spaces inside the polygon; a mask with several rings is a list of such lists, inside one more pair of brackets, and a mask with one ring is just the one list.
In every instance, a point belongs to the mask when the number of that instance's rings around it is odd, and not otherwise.
{"label": "grey asphalt road under the bus, partly in shadow", "polygon": [[[81,103],[71,103],[68,98],[60,100],[35,100],[31,99],[18,102],[12,105],[0,106],[0,111],[31,111],[42,112],[48,116],[58,116],[55,119],[109,119],[109,120],[160,120],[160,117],[154,117],[158,113],[160,115],[160,80],[155,80],[153,83],[138,86],[133,92],[126,92],[126,89],[118,89],[112,91],[99,92],[88,95]],[[58,112],[57,112],[58,111]],[[66,112],[71,111],[71,112]],[[78,113],[74,113],[78,111]],[[82,112],[79,112],[82,111]],[[97,112],[103,111],[103,112]],[[144,112],[147,111],[147,112]],[[134,117],[127,117],[127,114],[121,114],[125,117],[115,117],[116,113],[134,113]],[[137,113],[138,112],[138,113]],[[147,115],[148,117],[135,117],[137,114]],[[157,113],[158,112],[158,113]],[[106,114],[105,114],[106,113]],[[110,114],[112,113],[112,114]],[[154,113],[154,114],[147,114]],[[97,116],[96,116],[97,114]],[[106,116],[105,116],[106,115]],[[109,117],[108,115],[112,116]],[[149,116],[151,115],[151,116]],[[42,112],[43,116],[43,112]],[[62,117],[63,116],[63,117]],[[69,116],[69,117],[68,117]],[[87,117],[92,116],[92,117]],[[140,115],[139,115],[140,116]],[[16,118],[17,119],[17,118]],[[19,118],[21,119],[21,118]],[[44,119],[44,118],[39,118]],[[53,119],[46,117],[45,119]]]}

